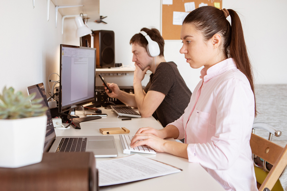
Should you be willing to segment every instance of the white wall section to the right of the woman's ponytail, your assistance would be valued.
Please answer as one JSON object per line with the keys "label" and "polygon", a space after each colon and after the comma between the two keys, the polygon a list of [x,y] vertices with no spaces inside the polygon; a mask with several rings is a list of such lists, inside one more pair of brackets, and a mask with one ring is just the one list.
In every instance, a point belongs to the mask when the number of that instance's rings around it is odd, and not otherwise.
{"label": "white wall section to the right of the woman's ponytail", "polygon": [[223,0],[223,7],[240,13],[255,83],[286,84],[287,1]]}

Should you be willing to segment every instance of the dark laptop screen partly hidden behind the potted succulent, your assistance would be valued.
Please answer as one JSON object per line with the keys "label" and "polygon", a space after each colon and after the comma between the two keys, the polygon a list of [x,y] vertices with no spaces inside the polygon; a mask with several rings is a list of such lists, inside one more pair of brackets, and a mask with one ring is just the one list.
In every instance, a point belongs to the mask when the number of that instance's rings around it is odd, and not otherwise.
{"label": "dark laptop screen partly hidden behind the potted succulent", "polygon": [[53,126],[48,101],[46,98],[44,84],[40,83],[40,84],[36,84],[34,86],[29,86],[27,89],[28,89],[28,94],[32,94],[35,92],[36,97],[34,99],[41,98],[42,99],[41,104],[43,106],[47,106],[47,108],[48,108],[46,111],[46,115],[47,115],[46,138],[45,138],[45,144],[44,144],[44,149],[43,149],[43,152],[48,152],[54,139],[55,139],[55,137],[56,137],[56,133],[55,133],[54,126]]}

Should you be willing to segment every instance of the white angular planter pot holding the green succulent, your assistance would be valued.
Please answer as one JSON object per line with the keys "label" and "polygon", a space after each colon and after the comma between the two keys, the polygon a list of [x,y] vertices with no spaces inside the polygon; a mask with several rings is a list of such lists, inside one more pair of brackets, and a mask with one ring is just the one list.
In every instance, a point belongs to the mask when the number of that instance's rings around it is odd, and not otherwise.
{"label": "white angular planter pot holding the green succulent", "polygon": [[0,167],[18,168],[42,161],[47,116],[0,119]]}

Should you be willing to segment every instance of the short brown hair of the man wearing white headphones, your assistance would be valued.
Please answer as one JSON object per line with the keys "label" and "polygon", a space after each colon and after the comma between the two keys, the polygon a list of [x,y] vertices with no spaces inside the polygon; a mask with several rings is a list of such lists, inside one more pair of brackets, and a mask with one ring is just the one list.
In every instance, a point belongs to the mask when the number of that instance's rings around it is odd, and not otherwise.
{"label": "short brown hair of the man wearing white headphones", "polygon": [[[140,31],[145,31],[148,34],[148,36],[150,36],[150,38],[153,41],[158,43],[158,46],[160,47],[160,54],[159,54],[159,56],[164,56],[163,55],[164,39],[160,35],[160,31],[158,31],[158,29],[155,29],[155,28],[151,28],[151,29],[142,28]],[[133,43],[137,43],[140,46],[146,48],[146,46],[148,45],[148,40],[146,40],[146,38],[142,34],[138,33],[138,34],[135,34],[131,38],[131,40],[129,41],[130,45],[133,44]]]}

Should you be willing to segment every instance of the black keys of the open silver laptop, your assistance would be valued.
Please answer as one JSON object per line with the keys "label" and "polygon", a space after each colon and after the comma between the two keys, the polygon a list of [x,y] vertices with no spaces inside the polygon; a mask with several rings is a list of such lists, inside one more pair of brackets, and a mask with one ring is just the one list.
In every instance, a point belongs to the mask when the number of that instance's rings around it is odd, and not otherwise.
{"label": "black keys of the open silver laptop", "polygon": [[62,138],[56,152],[85,152],[87,138]]}

